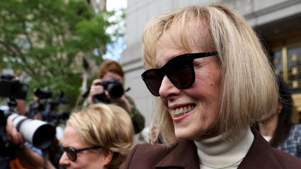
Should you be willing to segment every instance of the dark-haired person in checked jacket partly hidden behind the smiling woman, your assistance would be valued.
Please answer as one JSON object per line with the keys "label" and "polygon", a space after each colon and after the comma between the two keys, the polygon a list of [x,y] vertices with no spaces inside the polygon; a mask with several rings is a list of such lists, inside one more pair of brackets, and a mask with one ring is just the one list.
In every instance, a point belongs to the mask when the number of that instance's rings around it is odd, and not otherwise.
{"label": "dark-haired person in checked jacket partly hidden behind the smiling woman", "polygon": [[278,76],[279,103],[267,119],[258,122],[260,134],[272,147],[301,159],[301,124],[292,123],[293,98],[287,84]]}

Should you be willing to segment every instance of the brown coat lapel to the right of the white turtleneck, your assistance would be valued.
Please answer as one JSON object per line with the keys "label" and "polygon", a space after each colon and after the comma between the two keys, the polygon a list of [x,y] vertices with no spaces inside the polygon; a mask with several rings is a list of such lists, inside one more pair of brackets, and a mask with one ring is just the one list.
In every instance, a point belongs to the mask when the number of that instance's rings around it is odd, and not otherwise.
{"label": "brown coat lapel to the right of the white turtleneck", "polygon": [[254,141],[247,155],[241,161],[237,169],[253,169],[258,167],[281,169],[273,148],[256,129],[252,130],[254,134]]}

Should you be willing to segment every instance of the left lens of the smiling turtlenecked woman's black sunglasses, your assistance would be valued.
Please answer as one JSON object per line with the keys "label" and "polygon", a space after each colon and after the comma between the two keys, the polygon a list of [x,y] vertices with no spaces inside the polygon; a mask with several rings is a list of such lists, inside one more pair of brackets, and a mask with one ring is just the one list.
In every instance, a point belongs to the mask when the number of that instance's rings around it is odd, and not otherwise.
{"label": "left lens of the smiling turtlenecked woman's black sunglasses", "polygon": [[153,94],[159,95],[159,90],[163,78],[164,74],[161,74],[156,70],[149,71],[145,75],[146,83]]}

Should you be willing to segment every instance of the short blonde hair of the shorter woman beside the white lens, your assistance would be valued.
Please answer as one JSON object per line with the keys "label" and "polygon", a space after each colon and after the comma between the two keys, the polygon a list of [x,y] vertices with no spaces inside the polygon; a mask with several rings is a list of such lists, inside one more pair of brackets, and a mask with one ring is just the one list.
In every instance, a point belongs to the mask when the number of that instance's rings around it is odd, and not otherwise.
{"label": "short blonde hair of the shorter woman beside the white lens", "polygon": [[119,168],[132,149],[132,121],[119,106],[93,104],[81,112],[72,113],[67,124],[78,132],[87,146],[101,146],[113,151],[108,168]]}

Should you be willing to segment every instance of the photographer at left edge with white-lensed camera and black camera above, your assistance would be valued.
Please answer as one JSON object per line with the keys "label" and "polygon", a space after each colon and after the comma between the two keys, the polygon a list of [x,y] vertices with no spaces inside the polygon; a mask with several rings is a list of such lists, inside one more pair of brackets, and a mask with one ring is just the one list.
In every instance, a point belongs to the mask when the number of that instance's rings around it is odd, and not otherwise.
{"label": "photographer at left edge with white-lensed camera and black camera above", "polygon": [[23,116],[29,87],[19,82],[18,74],[3,70],[0,77],[0,97],[7,98],[8,105],[0,109],[0,168],[43,168],[42,149],[55,131],[46,122]]}

